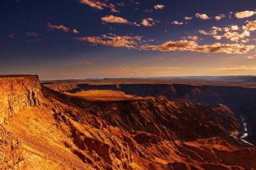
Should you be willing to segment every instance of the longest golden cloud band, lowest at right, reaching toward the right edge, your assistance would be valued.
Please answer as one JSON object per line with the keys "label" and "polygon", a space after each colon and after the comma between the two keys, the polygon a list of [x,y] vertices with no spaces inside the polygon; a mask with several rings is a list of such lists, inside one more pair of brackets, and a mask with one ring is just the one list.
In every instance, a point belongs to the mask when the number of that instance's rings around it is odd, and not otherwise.
{"label": "longest golden cloud band, lowest at right, reaching toward the right edge", "polygon": [[168,41],[160,45],[145,45],[141,46],[142,50],[158,50],[161,52],[167,51],[191,51],[191,52],[222,52],[226,54],[245,54],[255,48],[253,45],[245,46],[244,44],[212,44],[198,45],[192,40]]}

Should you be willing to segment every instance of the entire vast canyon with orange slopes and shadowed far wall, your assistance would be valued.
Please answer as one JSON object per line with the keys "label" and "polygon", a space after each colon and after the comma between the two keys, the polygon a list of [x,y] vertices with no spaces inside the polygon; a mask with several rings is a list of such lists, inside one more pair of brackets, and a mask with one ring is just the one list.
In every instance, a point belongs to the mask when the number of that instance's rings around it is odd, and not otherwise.
{"label": "entire vast canyon with orange slopes and shadowed far wall", "polygon": [[42,84],[0,77],[1,169],[256,169],[254,88]]}

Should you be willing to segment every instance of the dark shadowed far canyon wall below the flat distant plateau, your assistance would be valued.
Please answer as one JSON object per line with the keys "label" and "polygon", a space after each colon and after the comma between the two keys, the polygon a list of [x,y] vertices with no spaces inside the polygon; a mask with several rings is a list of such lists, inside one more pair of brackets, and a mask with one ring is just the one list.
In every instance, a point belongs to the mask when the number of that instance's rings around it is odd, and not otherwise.
{"label": "dark shadowed far canyon wall below the flat distant plateau", "polygon": [[[74,86],[74,85],[73,85]],[[120,84],[56,86],[57,91],[82,91],[90,89],[123,91],[140,97],[163,95],[168,99],[182,99],[193,103],[227,105],[237,117],[247,120],[249,136],[247,140],[256,145],[256,89],[235,86],[187,85],[187,84]]]}

